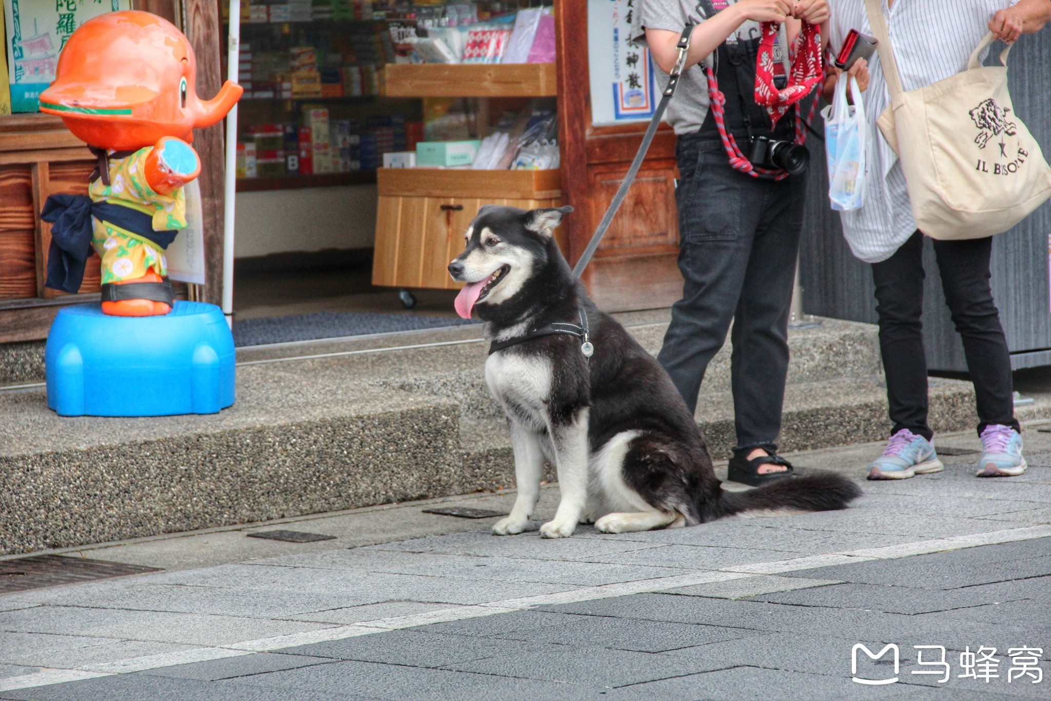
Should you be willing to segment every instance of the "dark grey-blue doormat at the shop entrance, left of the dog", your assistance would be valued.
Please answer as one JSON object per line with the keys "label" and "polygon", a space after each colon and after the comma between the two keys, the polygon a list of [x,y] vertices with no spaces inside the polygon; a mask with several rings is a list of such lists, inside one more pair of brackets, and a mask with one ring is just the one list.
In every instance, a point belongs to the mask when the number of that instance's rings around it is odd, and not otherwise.
{"label": "dark grey-blue doormat at the shop entrance, left of the dog", "polygon": [[478,324],[458,316],[421,316],[419,314],[379,314],[367,311],[321,311],[233,322],[235,346],[261,346],[291,341],[314,341],[360,336],[368,333],[439,329],[448,326]]}

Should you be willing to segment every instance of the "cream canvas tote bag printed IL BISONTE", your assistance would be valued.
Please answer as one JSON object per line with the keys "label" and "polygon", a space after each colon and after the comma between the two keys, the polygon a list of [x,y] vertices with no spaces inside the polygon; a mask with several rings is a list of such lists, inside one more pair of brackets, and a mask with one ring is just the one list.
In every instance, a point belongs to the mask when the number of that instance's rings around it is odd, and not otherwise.
{"label": "cream canvas tote bag printed IL BISONTE", "polygon": [[1011,47],[1002,65],[980,65],[990,33],[967,70],[905,92],[880,0],[865,0],[865,8],[890,91],[880,130],[901,159],[920,230],[931,239],[981,239],[1007,231],[1047,201],[1051,167],[1007,90]]}

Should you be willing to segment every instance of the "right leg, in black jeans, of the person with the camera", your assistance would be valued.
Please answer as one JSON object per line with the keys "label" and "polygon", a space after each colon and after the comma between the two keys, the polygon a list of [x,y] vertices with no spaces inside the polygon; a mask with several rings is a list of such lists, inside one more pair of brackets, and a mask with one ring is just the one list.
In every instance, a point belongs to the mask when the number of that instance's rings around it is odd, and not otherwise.
{"label": "right leg, in black jeans, of the person with the camera", "polygon": [[[730,338],[736,451],[744,457],[774,453],[781,432],[788,373],[791,305],[806,181],[750,184],[761,204]],[[759,449],[757,451],[757,449]],[[768,466],[763,472],[783,472]]]}

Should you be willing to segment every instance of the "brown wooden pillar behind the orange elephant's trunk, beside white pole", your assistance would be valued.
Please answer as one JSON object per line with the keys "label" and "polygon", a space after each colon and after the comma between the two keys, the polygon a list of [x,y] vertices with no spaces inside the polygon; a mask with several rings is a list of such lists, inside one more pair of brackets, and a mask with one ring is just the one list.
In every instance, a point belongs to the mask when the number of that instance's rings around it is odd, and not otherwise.
{"label": "brown wooden pillar behind the orange elephant's trunk, beside white pole", "polygon": [[[219,2],[184,0],[186,26],[197,55],[197,91],[205,98],[219,92],[223,84],[220,66]],[[223,182],[226,158],[221,121],[207,129],[193,130],[193,148],[201,157],[201,208],[204,213],[205,286],[203,301],[220,304],[223,296]],[[233,206],[233,203],[229,203]]]}

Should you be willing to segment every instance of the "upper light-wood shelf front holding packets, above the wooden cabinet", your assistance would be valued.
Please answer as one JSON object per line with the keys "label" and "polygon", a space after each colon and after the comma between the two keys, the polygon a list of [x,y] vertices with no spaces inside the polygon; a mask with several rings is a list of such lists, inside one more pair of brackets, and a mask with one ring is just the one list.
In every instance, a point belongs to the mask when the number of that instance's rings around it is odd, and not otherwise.
{"label": "upper light-wood shelf front holding packets, above the wooden cabinet", "polygon": [[388,63],[391,98],[543,98],[557,95],[554,63]]}

